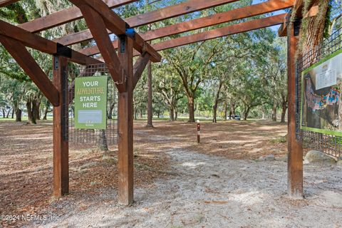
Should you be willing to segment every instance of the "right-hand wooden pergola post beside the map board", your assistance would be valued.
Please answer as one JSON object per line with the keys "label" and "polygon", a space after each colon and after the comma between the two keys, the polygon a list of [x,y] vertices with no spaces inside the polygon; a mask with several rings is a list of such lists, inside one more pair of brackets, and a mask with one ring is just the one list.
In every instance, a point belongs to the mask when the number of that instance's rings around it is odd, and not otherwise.
{"label": "right-hand wooden pergola post beside the map board", "polygon": [[303,197],[303,148],[296,140],[296,51],[298,38],[294,24],[288,26],[288,191],[292,197]]}

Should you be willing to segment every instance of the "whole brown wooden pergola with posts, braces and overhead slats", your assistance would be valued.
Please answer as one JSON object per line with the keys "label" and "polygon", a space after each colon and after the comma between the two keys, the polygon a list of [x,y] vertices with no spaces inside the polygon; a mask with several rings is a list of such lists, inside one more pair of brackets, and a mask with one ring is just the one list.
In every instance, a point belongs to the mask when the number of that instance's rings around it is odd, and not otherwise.
{"label": "whole brown wooden pergola with posts, braces and overhead slats", "polygon": [[[0,0],[0,7],[13,4],[18,0]],[[171,38],[160,43],[149,44],[148,41],[157,38],[185,33],[199,28],[217,24],[247,19],[251,16],[289,9],[295,5],[295,0],[269,0],[264,3],[233,9],[223,13],[206,16],[192,21],[173,24],[146,33],[133,33],[132,28],[152,24],[172,17],[190,14],[195,11],[209,9],[214,6],[229,4],[238,0],[189,0],[175,6],[150,11],[146,14],[121,19],[112,11],[113,8],[130,4],[136,0],[70,0],[75,6],[63,9],[48,16],[14,26],[0,21],[0,42],[24,69],[33,83],[53,105],[53,195],[61,197],[68,194],[68,141],[63,138],[66,125],[66,110],[68,95],[63,92],[66,85],[66,68],[68,61],[82,65],[106,63],[114,81],[125,78],[124,83],[117,85],[118,99],[118,202],[133,203],[133,90],[138,83],[142,71],[149,61],[159,62],[158,51],[189,43],[206,41],[235,33],[243,33],[258,28],[283,24],[282,35],[288,36],[289,44],[289,193],[303,193],[303,162],[302,149],[296,142],[295,135],[295,53],[298,32],[296,26],[289,25],[289,16],[280,14],[262,19],[255,19],[231,26],[212,29],[190,36]],[[298,0],[297,0],[298,1]],[[53,40],[48,40],[36,33],[60,26],[71,21],[84,18],[88,29],[69,34]],[[130,31],[130,32],[128,32]],[[118,36],[110,40],[109,34]],[[97,46],[75,51],[68,46],[82,41],[95,40]],[[51,54],[53,57],[53,81],[46,76],[33,59],[26,47]],[[120,47],[120,48],[118,48]],[[102,58],[93,58],[96,54]],[[133,57],[139,56],[133,66]]]}

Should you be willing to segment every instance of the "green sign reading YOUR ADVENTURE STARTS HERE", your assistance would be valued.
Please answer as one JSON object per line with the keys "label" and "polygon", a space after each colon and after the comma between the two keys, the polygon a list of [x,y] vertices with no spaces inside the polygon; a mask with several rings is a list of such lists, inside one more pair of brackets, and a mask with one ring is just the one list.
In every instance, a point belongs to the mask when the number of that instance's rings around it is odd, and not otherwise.
{"label": "green sign reading YOUR ADVENTURE STARTS HERE", "polygon": [[107,128],[107,76],[75,79],[75,128]]}

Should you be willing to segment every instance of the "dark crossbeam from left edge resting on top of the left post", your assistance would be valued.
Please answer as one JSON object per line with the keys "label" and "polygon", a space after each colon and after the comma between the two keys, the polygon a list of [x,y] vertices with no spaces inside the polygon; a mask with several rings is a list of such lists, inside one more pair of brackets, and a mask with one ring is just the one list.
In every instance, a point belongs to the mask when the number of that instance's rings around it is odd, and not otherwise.
{"label": "dark crossbeam from left edge resting on top of the left post", "polygon": [[58,45],[53,41],[49,41],[46,38],[30,33],[22,28],[11,25],[5,21],[0,20],[0,35],[6,36],[24,44],[24,46],[42,51],[52,55],[66,55],[70,61],[83,65],[103,63],[95,58],[90,58],[82,53],[73,51],[71,48]]}

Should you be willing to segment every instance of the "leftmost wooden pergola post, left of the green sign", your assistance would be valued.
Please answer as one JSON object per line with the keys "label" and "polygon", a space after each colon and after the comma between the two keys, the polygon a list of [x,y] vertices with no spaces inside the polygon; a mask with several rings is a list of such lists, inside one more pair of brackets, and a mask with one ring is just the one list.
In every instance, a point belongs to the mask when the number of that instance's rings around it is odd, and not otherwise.
{"label": "leftmost wooden pergola post, left of the green sign", "polygon": [[68,88],[66,68],[68,59],[53,56],[53,86],[58,90],[59,105],[53,107],[53,195],[69,192]]}

